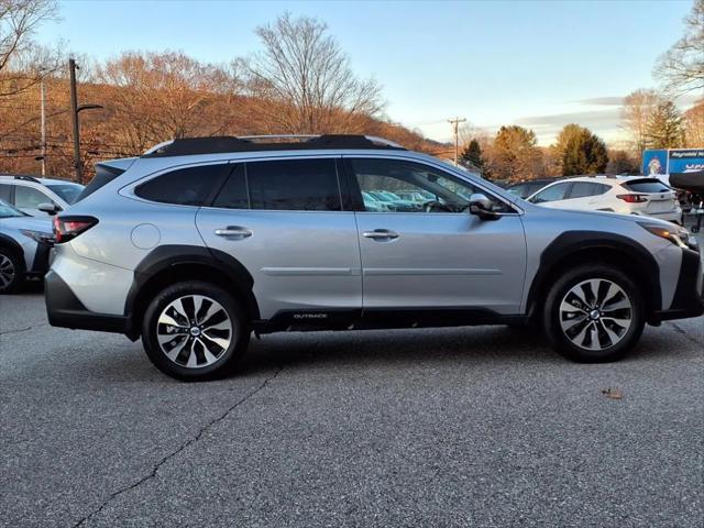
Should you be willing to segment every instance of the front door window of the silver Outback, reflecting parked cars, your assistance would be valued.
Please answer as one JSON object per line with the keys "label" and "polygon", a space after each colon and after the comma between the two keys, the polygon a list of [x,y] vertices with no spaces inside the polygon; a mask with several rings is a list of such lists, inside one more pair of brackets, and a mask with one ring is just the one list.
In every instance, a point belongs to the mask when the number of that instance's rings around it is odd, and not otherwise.
{"label": "front door window of the silver Outback, reflecting parked cars", "polygon": [[[349,165],[370,212],[462,212],[477,187],[419,163],[350,158]],[[509,210],[495,200],[496,211]]]}

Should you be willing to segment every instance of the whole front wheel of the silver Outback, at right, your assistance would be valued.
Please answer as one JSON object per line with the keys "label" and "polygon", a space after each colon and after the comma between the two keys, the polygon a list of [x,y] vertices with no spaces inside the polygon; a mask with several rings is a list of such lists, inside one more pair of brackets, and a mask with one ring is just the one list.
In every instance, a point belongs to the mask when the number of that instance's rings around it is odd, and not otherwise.
{"label": "whole front wheel of the silver Outback, at right", "polygon": [[615,361],[640,339],[645,304],[622,271],[601,264],[566,272],[543,309],[548,339],[564,356],[586,363]]}

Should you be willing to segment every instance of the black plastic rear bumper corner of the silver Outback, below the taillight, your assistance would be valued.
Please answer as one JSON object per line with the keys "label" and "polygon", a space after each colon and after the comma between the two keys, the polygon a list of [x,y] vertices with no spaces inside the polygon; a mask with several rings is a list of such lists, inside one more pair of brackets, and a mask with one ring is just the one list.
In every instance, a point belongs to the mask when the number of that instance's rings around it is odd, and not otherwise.
{"label": "black plastic rear bumper corner of the silver Outback, below the taillight", "polygon": [[48,322],[53,327],[132,334],[130,318],[88,310],[53,270],[44,278],[44,298]]}

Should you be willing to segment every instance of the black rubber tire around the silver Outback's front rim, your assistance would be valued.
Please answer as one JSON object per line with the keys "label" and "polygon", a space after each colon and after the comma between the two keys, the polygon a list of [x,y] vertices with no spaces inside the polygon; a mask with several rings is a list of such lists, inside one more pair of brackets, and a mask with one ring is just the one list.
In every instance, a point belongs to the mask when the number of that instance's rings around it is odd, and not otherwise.
{"label": "black rubber tire around the silver Outback's front rim", "polygon": [[[595,301],[594,304],[600,308],[596,310],[601,314],[598,316],[593,315],[594,310],[588,308],[581,310],[581,312],[575,316],[568,315],[566,311],[561,311],[562,301],[568,298],[565,296],[568,296],[573,288],[582,288],[584,282],[592,279],[603,279],[607,285],[608,282],[615,284],[622,292],[618,296],[612,297],[612,299],[626,299],[630,302],[630,309],[607,310],[607,308],[625,304],[625,301],[609,301],[604,302],[605,308],[604,311],[602,311],[598,302]],[[591,292],[591,285],[585,285],[584,287],[588,288],[587,292]],[[608,286],[597,287],[600,292],[604,292],[605,288],[608,288]],[[606,289],[606,292],[608,292],[608,289]],[[582,293],[584,294],[584,289],[582,289]],[[569,299],[578,304],[580,302],[579,299],[574,298],[574,294],[571,294]],[[569,320],[570,317],[584,317],[586,321],[585,327],[588,328],[585,330],[583,340],[580,339],[583,328],[581,322],[579,326],[575,324],[574,328],[563,331],[562,324],[569,326],[571,322]],[[592,317],[597,317],[597,319],[593,320]],[[627,329],[625,329],[625,327],[622,329],[623,333],[617,334],[620,327],[618,324],[615,326],[615,321],[627,320],[628,317],[630,317],[630,324]],[[542,311],[543,330],[552,346],[563,356],[580,363],[602,363],[622,359],[640,339],[645,323],[646,305],[636,284],[623,271],[601,263],[584,264],[565,272],[550,288]],[[594,329],[596,329],[596,334],[593,333]],[[590,333],[590,336],[587,337],[586,333]],[[570,334],[572,339],[570,339],[568,334]],[[614,339],[610,337],[612,334],[617,334],[618,341],[614,342]],[[594,337],[596,337],[596,339],[594,339]],[[582,342],[582,344],[586,343],[586,346],[578,345],[573,340]],[[588,346],[592,345],[594,341],[597,343],[596,346],[600,346],[602,343],[604,346],[598,350],[590,350]]]}

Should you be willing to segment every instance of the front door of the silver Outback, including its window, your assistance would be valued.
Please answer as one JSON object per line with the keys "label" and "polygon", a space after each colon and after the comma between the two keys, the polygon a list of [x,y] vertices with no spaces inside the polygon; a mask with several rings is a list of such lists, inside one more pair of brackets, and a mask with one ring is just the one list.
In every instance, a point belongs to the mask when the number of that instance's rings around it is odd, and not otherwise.
{"label": "front door of the silver Outback, including its window", "polygon": [[386,193],[389,198],[383,211],[359,199],[365,314],[414,308],[519,312],[526,241],[520,216],[510,206],[495,198],[505,215],[481,220],[469,213],[468,201],[482,190],[417,162],[346,157],[345,167],[353,194]]}

